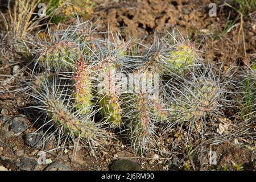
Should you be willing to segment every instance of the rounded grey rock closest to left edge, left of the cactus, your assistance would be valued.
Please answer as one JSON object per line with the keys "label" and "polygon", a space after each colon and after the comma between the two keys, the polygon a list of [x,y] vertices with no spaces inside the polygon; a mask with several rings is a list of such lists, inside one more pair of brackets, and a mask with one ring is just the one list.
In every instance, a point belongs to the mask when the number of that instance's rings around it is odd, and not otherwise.
{"label": "rounded grey rock closest to left edge, left of the cactus", "polygon": [[20,114],[13,118],[9,126],[9,131],[13,132],[16,136],[27,129],[27,118],[25,115]]}

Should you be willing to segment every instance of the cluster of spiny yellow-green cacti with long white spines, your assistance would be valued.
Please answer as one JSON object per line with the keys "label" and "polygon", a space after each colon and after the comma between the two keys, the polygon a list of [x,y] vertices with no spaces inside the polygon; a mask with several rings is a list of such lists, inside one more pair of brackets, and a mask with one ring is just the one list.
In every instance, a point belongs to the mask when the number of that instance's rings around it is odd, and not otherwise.
{"label": "cluster of spiny yellow-green cacti with long white spines", "polygon": [[[100,137],[120,130],[134,152],[144,154],[157,146],[162,126],[200,119],[220,106],[219,83],[203,71],[209,68],[188,41],[156,38],[137,53],[118,36],[92,39],[90,26],[87,34],[80,26],[50,32],[40,43],[36,63],[43,72],[32,86],[37,108],[69,137],[101,146]],[[119,73],[127,76],[124,90]]]}

